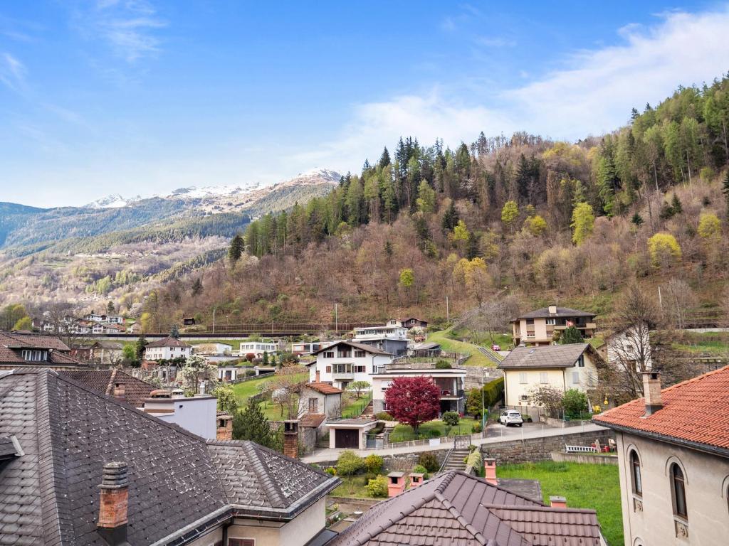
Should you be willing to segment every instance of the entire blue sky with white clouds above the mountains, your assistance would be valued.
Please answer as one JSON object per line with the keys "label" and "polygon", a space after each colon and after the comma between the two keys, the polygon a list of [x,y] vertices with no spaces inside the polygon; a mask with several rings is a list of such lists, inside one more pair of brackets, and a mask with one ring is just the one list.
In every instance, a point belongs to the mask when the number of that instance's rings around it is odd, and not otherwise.
{"label": "entire blue sky with white clouds above the mountains", "polygon": [[716,2],[4,2],[0,201],[356,171],[399,135],[574,140],[728,71],[727,36]]}

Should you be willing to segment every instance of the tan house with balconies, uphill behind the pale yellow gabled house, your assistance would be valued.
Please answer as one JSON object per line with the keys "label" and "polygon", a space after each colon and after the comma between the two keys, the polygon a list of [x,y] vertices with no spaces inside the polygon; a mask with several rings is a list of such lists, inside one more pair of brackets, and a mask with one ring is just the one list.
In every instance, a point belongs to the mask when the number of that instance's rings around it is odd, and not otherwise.
{"label": "tan house with balconies, uphill behind the pale yellow gabled house", "polygon": [[591,338],[596,329],[596,314],[550,305],[521,315],[511,321],[514,346],[549,345],[554,333],[574,326],[583,338]]}

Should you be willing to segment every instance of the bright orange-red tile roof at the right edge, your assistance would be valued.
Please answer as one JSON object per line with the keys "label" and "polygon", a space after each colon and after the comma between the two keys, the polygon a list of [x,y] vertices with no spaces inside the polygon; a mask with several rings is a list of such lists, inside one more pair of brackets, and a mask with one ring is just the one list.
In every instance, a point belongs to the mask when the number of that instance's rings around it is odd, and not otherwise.
{"label": "bright orange-red tile roof at the right edge", "polygon": [[607,427],[718,448],[729,456],[729,366],[661,391],[663,408],[645,415],[645,400],[631,400],[593,417]]}

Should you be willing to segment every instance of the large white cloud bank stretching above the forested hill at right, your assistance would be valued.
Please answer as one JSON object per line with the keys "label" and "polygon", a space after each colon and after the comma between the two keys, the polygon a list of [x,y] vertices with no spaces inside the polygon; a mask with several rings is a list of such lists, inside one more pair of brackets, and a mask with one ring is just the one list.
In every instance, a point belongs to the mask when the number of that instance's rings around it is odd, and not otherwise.
{"label": "large white cloud bank stretching above the forested hill at right", "polygon": [[[504,90],[480,106],[466,83],[461,90],[436,88],[355,106],[339,138],[290,155],[284,165],[357,170],[365,157],[372,161],[400,135],[416,136],[426,144],[443,138],[446,145],[458,146],[474,141],[482,130],[487,135],[526,130],[571,140],[614,130],[627,122],[632,107],[642,110],[679,84],[711,81],[729,68],[727,10],[659,17],[651,28],[619,29],[625,41],[621,45],[576,52],[565,60],[565,68]],[[520,74],[528,77],[525,71]]]}

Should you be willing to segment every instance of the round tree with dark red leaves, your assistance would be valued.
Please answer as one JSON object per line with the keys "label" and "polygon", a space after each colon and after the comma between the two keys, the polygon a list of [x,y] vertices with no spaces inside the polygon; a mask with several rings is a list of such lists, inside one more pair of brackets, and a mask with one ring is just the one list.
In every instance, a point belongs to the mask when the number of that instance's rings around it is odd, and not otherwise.
{"label": "round tree with dark red leaves", "polygon": [[385,402],[388,413],[417,434],[421,423],[438,416],[440,389],[429,377],[398,377],[385,391]]}

